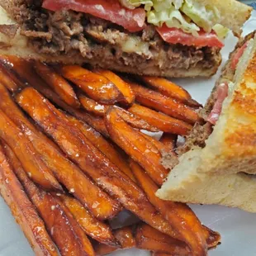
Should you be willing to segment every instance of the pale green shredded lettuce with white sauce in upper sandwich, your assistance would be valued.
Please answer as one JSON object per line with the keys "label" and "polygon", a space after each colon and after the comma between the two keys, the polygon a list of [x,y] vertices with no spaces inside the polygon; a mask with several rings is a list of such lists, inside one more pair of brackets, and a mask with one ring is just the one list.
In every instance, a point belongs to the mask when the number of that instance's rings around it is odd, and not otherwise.
{"label": "pale green shredded lettuce with white sauce in upper sandwich", "polygon": [[148,22],[155,26],[162,26],[165,23],[168,27],[182,29],[193,36],[198,36],[201,28],[206,32],[214,30],[220,38],[224,38],[228,31],[220,25],[220,12],[216,7],[201,6],[193,0],[126,0],[126,2],[134,7],[144,5]]}

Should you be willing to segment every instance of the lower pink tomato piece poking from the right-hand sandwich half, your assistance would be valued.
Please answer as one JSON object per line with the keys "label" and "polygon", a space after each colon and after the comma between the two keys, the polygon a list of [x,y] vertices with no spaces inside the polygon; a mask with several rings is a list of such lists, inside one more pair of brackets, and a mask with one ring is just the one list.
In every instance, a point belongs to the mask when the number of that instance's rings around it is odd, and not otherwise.
{"label": "lower pink tomato piece poking from the right-hand sandwich half", "polygon": [[222,105],[225,101],[225,98],[229,94],[229,86],[227,83],[220,83],[217,88],[217,100],[214,104],[214,107],[208,116],[207,121],[209,121],[212,125],[216,125],[216,121],[219,120],[220,113],[222,111]]}

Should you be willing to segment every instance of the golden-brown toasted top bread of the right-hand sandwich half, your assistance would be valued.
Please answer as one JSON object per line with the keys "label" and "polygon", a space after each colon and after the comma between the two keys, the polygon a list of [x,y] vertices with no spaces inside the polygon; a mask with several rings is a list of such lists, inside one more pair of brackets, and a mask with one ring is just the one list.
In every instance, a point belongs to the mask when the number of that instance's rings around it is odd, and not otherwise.
{"label": "golden-brown toasted top bread of the right-hand sandwich half", "polygon": [[229,83],[229,91],[201,159],[208,166],[207,172],[253,174],[256,173],[255,39],[249,40],[239,60],[235,81]]}

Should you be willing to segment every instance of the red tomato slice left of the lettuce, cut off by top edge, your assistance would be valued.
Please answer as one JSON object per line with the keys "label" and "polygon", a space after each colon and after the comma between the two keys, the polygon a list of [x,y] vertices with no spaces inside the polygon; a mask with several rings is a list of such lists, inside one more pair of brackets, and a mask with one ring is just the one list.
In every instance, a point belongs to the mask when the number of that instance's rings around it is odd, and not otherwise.
{"label": "red tomato slice left of the lettuce, cut off by top edge", "polygon": [[117,0],[44,0],[43,7],[50,11],[73,10],[111,21],[127,31],[141,31],[145,27],[145,10],[122,7]]}

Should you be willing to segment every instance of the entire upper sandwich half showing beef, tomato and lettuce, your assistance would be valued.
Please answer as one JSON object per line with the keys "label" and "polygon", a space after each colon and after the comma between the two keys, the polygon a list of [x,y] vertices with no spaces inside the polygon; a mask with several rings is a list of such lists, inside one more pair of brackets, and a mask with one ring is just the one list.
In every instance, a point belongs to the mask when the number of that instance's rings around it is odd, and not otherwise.
{"label": "entire upper sandwich half showing beef, tomato and lettuce", "polygon": [[209,77],[227,32],[251,7],[235,0],[0,0],[0,54],[165,77]]}

